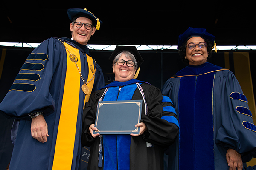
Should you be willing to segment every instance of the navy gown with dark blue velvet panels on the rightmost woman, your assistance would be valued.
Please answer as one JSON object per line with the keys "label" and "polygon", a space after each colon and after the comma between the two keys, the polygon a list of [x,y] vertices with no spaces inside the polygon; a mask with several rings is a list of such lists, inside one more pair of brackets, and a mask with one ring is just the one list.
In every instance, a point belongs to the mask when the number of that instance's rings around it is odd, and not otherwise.
{"label": "navy gown with dark blue velvet panels on the rightmost woman", "polygon": [[169,147],[169,170],[228,170],[228,148],[255,157],[256,128],[239,82],[224,68],[189,65],[163,86],[175,105],[179,138]]}

